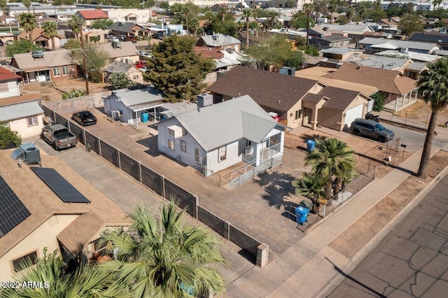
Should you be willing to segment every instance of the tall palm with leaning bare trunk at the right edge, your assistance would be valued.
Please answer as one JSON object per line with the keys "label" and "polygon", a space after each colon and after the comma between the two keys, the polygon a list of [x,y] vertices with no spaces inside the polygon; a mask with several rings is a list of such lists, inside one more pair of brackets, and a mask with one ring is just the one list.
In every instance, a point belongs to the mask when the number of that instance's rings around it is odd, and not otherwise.
{"label": "tall palm with leaning bare trunk at the right edge", "polygon": [[423,100],[431,105],[431,118],[426,132],[426,139],[421,154],[419,172],[417,176],[425,178],[437,116],[448,104],[448,58],[438,59],[426,64],[428,70],[420,74],[417,85],[423,94]]}

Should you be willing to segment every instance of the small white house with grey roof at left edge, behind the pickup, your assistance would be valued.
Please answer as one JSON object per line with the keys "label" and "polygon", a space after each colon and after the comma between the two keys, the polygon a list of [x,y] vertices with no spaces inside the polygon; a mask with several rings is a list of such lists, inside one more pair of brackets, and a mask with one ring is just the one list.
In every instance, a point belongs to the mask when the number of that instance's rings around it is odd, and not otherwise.
{"label": "small white house with grey roof at left edge, behind the pickup", "polygon": [[0,99],[0,122],[18,132],[22,139],[37,136],[43,128],[43,110],[39,106],[41,100],[39,94]]}

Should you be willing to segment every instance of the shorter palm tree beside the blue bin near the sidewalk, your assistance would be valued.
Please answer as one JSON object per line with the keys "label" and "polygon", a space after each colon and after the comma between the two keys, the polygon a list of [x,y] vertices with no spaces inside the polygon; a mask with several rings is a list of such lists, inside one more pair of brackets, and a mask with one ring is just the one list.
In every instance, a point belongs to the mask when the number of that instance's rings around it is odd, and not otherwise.
{"label": "shorter palm tree beside the blue bin near the sidewalk", "polygon": [[325,197],[327,180],[318,173],[304,173],[302,178],[293,181],[295,195],[307,197],[313,202],[313,213],[319,213],[319,201]]}

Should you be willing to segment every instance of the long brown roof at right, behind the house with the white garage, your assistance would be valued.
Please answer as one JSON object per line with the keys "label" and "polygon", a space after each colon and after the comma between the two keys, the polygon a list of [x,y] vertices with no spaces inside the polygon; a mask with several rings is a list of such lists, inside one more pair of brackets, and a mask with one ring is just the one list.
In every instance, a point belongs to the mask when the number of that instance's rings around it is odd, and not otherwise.
{"label": "long brown roof at right, behind the house with the white garage", "polygon": [[402,95],[416,89],[416,80],[400,76],[400,71],[376,69],[368,66],[344,63],[334,73],[328,73],[326,78],[346,80],[353,83],[372,85],[383,92]]}

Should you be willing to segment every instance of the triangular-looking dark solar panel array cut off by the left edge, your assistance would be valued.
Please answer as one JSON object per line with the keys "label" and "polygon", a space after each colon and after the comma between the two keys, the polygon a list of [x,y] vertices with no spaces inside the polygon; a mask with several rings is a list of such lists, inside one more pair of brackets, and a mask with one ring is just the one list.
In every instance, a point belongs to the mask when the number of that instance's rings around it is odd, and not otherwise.
{"label": "triangular-looking dark solar panel array cut off by the left edge", "polygon": [[0,238],[31,215],[17,194],[0,176]]}

